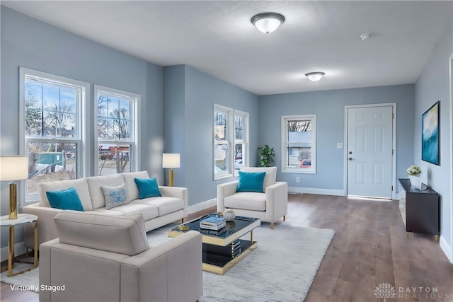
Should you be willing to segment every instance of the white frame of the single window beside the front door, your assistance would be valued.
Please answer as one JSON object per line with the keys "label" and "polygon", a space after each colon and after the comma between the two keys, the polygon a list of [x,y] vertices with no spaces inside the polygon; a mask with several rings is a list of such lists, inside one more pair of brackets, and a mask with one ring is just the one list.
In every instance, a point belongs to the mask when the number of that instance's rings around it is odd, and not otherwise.
{"label": "white frame of the single window beside the front door", "polygon": [[[292,168],[287,165],[288,121],[311,120],[311,168]],[[316,114],[282,115],[282,173],[316,174]]]}

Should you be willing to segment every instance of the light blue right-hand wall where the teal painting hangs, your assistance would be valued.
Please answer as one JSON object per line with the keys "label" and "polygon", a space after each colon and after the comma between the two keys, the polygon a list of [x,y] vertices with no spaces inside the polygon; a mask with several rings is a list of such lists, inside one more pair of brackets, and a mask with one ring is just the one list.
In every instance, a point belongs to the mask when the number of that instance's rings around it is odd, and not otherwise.
{"label": "light blue right-hand wall where the teal painting hangs", "polygon": [[[452,217],[453,206],[450,187],[452,186],[452,171],[450,164],[450,148],[452,133],[449,130],[450,99],[449,99],[449,62],[453,53],[453,25],[450,25],[443,39],[432,52],[428,64],[415,83],[415,131],[414,131],[414,163],[423,170],[423,182],[428,183],[441,196],[440,207],[440,246],[449,249],[452,257]],[[421,115],[437,100],[440,100],[440,165],[433,165],[421,160]],[[444,241],[445,240],[445,241]],[[447,247],[446,247],[447,246]]]}

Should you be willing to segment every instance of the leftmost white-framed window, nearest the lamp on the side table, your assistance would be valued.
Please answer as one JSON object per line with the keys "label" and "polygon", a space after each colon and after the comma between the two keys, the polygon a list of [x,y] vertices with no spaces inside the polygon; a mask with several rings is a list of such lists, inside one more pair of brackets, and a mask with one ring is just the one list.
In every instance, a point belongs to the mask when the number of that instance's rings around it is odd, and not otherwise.
{"label": "leftmost white-framed window, nearest the lamp on the side table", "polygon": [[88,92],[88,83],[20,69],[21,149],[28,155],[29,173],[25,201],[38,199],[39,182],[85,175]]}

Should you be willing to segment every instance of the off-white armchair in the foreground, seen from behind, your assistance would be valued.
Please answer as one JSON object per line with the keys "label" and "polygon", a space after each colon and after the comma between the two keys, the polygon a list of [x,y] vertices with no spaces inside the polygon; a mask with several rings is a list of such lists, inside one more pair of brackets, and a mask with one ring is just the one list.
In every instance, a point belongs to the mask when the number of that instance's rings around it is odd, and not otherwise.
{"label": "off-white armchair in the foreground, seen from behind", "polygon": [[41,302],[194,302],[202,296],[198,232],[150,248],[141,214],[67,211],[55,216],[55,226],[58,238],[40,246]]}

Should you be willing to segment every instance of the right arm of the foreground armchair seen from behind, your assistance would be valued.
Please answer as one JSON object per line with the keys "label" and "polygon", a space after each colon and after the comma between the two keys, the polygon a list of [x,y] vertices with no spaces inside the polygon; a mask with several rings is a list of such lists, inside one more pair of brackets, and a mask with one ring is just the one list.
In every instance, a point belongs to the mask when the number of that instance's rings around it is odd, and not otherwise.
{"label": "right arm of the foreground armchair seen from behind", "polygon": [[197,301],[202,295],[201,234],[189,231],[125,259],[120,301]]}

